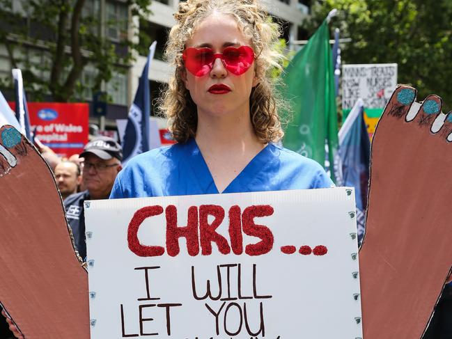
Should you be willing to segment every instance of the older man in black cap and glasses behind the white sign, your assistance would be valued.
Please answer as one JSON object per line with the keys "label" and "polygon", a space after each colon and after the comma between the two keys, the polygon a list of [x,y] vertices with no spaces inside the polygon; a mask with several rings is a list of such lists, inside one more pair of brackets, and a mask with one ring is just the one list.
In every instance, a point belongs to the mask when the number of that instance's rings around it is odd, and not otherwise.
{"label": "older man in black cap and glasses behind the white sign", "polygon": [[99,136],[87,143],[79,156],[84,158],[81,178],[86,191],[65,198],[64,207],[77,251],[86,260],[84,201],[109,198],[116,175],[123,168],[123,150],[114,139]]}

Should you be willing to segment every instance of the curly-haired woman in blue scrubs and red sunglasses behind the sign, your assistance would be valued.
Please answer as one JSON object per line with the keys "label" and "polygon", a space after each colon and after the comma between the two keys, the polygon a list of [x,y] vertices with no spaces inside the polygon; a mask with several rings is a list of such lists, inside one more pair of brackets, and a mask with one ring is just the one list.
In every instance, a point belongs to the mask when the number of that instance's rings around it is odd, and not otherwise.
{"label": "curly-haired woman in blue scrubs and red sunglasses behind the sign", "polygon": [[256,0],[179,4],[161,109],[176,145],[131,159],[110,198],[331,187],[323,168],[279,147],[272,69],[279,27]]}

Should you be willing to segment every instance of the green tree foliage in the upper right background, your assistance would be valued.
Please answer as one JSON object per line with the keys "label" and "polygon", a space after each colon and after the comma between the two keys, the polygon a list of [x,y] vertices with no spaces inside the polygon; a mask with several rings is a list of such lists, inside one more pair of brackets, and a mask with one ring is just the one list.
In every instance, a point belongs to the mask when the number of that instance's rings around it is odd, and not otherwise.
{"label": "green tree foliage in the upper right background", "polygon": [[398,82],[417,88],[418,100],[435,93],[443,111],[452,108],[452,1],[318,0],[305,28],[313,33],[332,8],[330,27],[352,38],[343,63],[398,63]]}

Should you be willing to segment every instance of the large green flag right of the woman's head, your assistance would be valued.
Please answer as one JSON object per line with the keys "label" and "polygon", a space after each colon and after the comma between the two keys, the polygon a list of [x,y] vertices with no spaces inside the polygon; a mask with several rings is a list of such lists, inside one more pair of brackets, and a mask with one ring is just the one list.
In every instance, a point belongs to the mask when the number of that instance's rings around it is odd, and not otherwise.
{"label": "large green flag right of the woman's head", "polygon": [[327,20],[293,57],[282,74],[283,97],[290,102],[293,120],[286,129],[283,145],[325,165],[325,143],[331,177],[336,182],[338,125],[332,50]]}

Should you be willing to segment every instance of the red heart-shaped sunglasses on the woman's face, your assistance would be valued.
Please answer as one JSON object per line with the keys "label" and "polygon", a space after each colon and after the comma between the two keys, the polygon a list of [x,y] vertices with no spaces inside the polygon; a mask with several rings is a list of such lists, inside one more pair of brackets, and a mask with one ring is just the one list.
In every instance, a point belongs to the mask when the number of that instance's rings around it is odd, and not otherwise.
{"label": "red heart-shaped sunglasses on the woman's face", "polygon": [[226,47],[223,53],[214,53],[211,48],[189,47],[182,53],[185,68],[195,77],[202,77],[212,70],[215,59],[219,58],[226,70],[235,75],[243,74],[254,62],[254,51],[249,46]]}

